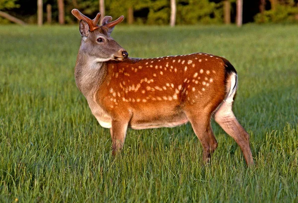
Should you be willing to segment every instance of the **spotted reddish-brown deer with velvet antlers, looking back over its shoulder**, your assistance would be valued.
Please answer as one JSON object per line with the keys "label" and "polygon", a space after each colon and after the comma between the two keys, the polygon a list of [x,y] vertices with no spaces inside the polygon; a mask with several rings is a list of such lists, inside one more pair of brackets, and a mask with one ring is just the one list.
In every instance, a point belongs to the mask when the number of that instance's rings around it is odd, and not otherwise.
{"label": "spotted reddish-brown deer with velvet antlers, looking back over its shoulder", "polygon": [[75,83],[101,127],[110,129],[112,154],[124,146],[131,129],[176,127],[190,122],[210,163],[218,142],[214,119],[240,146],[247,166],[253,166],[249,134],[232,111],[238,77],[223,57],[206,53],[129,58],[112,37],[124,16],[94,19],[73,9],[79,20],[81,44],[75,64]]}

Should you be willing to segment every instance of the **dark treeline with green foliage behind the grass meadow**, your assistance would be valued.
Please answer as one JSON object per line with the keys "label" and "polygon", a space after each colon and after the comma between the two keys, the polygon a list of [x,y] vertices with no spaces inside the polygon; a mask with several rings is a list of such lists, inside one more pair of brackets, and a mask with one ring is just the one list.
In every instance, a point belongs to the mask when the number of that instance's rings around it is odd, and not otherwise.
{"label": "dark treeline with green foliage behind the grass meadow", "polygon": [[[73,8],[93,17],[100,0],[42,0],[43,21],[51,9],[51,23],[73,24]],[[102,0],[103,2],[104,0]],[[59,20],[63,3],[63,21]],[[236,0],[176,0],[176,24],[221,24],[236,21]],[[47,9],[48,8],[48,9]],[[0,0],[0,10],[27,23],[37,23],[37,0]],[[126,23],[168,24],[170,0],[105,0],[106,15],[124,15]],[[49,17],[48,17],[49,18]],[[243,0],[243,23],[298,22],[298,0]],[[0,17],[0,23],[8,20]],[[50,22],[50,21],[48,21]]]}

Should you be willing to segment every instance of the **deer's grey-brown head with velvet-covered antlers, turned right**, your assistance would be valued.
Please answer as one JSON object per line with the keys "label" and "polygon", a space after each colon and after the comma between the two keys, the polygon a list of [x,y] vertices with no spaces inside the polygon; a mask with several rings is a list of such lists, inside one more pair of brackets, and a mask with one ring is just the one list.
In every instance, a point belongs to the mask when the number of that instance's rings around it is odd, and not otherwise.
{"label": "deer's grey-brown head with velvet-covered antlers, turned right", "polygon": [[94,57],[96,62],[123,61],[128,57],[127,51],[110,36],[115,26],[123,21],[123,15],[114,21],[111,21],[111,16],[105,16],[102,24],[97,25],[101,16],[100,13],[97,13],[93,20],[77,9],[73,9],[72,13],[80,20],[81,49],[89,56]]}

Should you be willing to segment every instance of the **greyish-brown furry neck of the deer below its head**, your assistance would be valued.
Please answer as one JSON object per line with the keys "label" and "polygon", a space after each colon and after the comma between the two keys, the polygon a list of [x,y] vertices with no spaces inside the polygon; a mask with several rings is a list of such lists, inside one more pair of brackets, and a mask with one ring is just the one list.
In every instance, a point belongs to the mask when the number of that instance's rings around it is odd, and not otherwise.
{"label": "greyish-brown furry neck of the deer below its head", "polygon": [[97,62],[95,58],[90,57],[87,53],[84,53],[83,50],[79,50],[74,76],[76,86],[84,96],[94,94],[102,84],[106,74],[106,63]]}

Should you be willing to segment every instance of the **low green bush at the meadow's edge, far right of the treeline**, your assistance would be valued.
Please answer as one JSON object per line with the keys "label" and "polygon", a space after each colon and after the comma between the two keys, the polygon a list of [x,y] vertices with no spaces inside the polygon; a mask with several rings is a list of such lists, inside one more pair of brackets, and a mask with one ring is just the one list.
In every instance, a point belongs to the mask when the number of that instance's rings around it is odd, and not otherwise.
{"label": "low green bush at the meadow's edge, far right of the treeline", "polygon": [[257,23],[297,22],[298,7],[277,4],[276,9],[266,10],[264,13],[258,13],[254,19]]}

